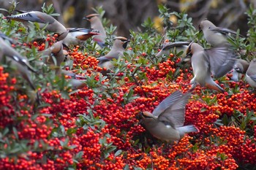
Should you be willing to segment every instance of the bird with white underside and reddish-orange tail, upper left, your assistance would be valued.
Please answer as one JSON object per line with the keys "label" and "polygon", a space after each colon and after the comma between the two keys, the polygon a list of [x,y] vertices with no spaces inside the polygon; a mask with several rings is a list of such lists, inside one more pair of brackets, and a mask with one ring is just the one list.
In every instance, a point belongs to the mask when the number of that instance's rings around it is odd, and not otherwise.
{"label": "bird with white underside and reddish-orange tail, upper left", "polygon": [[99,31],[93,28],[67,28],[69,33],[63,39],[65,45],[81,45],[91,36],[99,35]]}

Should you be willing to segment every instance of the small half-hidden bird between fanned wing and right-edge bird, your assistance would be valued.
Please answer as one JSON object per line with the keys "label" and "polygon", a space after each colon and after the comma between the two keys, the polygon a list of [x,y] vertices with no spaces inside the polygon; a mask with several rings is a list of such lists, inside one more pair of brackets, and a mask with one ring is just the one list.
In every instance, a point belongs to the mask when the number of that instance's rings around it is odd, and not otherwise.
{"label": "small half-hidden bird between fanned wing and right-edge bird", "polygon": [[238,59],[236,61],[234,69],[231,71],[232,77],[230,77],[230,79],[235,82],[238,82],[241,79],[242,74],[246,74],[248,67],[249,67],[248,61],[245,61],[243,59]]}

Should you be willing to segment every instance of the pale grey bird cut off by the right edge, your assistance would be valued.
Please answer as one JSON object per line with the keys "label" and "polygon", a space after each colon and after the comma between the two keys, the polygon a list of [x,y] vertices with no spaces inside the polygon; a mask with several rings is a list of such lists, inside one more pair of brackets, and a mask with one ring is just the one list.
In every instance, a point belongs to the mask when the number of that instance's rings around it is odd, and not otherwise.
{"label": "pale grey bird cut off by the right edge", "polygon": [[256,88],[256,58],[249,63],[245,79],[252,88]]}

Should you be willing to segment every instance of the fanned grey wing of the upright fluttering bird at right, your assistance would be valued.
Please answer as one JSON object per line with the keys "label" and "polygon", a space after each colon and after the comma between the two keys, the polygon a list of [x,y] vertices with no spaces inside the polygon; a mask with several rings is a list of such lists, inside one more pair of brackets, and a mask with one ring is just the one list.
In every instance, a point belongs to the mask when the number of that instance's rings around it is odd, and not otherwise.
{"label": "fanned grey wing of the upright fluttering bird at right", "polygon": [[213,47],[204,50],[214,77],[222,77],[233,69],[236,53],[230,47]]}

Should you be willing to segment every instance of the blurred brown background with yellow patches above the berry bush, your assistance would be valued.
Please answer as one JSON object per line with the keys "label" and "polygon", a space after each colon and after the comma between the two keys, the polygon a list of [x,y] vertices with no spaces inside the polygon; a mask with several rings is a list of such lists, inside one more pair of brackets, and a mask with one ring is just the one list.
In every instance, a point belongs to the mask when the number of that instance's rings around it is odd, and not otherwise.
{"label": "blurred brown background with yellow patches above the berry bush", "polygon": [[[56,12],[60,14],[57,18],[67,27],[89,27],[89,22],[83,20],[85,15],[95,13],[94,9],[102,7],[105,10],[104,18],[117,26],[116,35],[129,37],[129,30],[138,31],[141,23],[147,18],[154,21],[154,26],[162,29],[162,19],[159,18],[158,4],[165,4],[167,8],[175,12],[186,12],[191,17],[194,26],[197,28],[200,20],[208,18],[215,25],[241,30],[246,36],[248,30],[247,19],[244,12],[252,4],[256,8],[255,0],[19,0],[17,9],[39,10],[43,3],[53,4]],[[9,9],[10,3],[0,0],[1,8]],[[170,17],[174,23],[175,17]]]}

